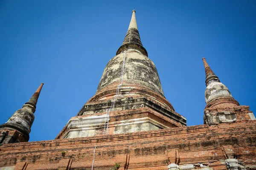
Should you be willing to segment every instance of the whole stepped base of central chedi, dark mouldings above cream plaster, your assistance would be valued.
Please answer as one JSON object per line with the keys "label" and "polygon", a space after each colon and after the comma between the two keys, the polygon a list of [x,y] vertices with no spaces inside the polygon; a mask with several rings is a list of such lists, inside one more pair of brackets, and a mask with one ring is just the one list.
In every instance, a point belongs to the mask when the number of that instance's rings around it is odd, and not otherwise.
{"label": "whole stepped base of central chedi, dark mouldings above cream plaster", "polygon": [[[146,97],[117,98],[110,119],[106,109],[111,100],[85,104],[78,115],[72,117],[56,139],[102,135],[108,126],[108,134],[157,130],[186,125],[186,119],[168,107]],[[107,122],[109,121],[109,125]],[[106,123],[105,123],[106,122]]]}

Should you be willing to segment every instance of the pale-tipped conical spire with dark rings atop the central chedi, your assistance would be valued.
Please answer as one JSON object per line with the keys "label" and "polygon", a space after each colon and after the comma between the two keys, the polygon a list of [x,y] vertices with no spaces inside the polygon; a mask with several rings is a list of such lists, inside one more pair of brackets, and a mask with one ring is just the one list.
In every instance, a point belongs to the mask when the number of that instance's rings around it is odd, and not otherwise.
{"label": "pale-tipped conical spire with dark rings atop the central chedi", "polygon": [[136,21],[136,16],[135,16],[135,9],[132,11],[132,16],[131,16],[131,22],[128,27],[128,31],[125,35],[125,40],[122,43],[122,46],[117,50],[116,55],[122,53],[122,51],[126,49],[137,49],[141,53],[143,53],[145,56],[148,57],[148,52],[146,49],[143,47],[142,42],[140,40],[140,34],[138,31],[137,27],[137,21]]}

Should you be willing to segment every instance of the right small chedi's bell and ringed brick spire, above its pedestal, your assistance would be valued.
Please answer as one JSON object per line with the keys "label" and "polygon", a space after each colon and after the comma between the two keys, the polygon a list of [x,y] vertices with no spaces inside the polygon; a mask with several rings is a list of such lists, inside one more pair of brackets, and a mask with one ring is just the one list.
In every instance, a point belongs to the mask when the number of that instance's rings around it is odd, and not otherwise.
{"label": "right small chedi's bell and ringed brick spire, above its pedestal", "polygon": [[206,59],[203,58],[205,69],[205,102],[206,108],[228,108],[239,106],[239,103],[233,98],[228,88],[222,84],[219,78],[213,73]]}

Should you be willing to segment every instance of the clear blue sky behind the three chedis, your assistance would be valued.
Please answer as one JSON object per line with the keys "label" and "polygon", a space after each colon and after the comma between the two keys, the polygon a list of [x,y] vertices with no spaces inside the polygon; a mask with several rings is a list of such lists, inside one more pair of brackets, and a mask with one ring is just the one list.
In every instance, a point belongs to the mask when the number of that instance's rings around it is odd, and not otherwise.
{"label": "clear blue sky behind the three chedis", "polygon": [[203,124],[202,57],[255,111],[255,0],[0,0],[0,124],[44,82],[30,141],[54,139],[95,94],[134,7],[166,99],[188,126]]}

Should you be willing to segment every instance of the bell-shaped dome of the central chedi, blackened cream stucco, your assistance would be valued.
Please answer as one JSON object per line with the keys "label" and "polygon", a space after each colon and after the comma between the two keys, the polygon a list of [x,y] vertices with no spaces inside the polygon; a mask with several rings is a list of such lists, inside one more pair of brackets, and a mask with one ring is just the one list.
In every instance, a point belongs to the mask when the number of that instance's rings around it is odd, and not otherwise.
{"label": "bell-shaped dome of the central chedi, blackened cream stucco", "polygon": [[[162,85],[154,63],[140,51],[129,49],[125,54],[125,70],[123,81],[133,82],[142,87],[150,88],[158,94],[163,94]],[[124,53],[113,57],[105,67],[97,91],[120,81],[122,73]]]}

